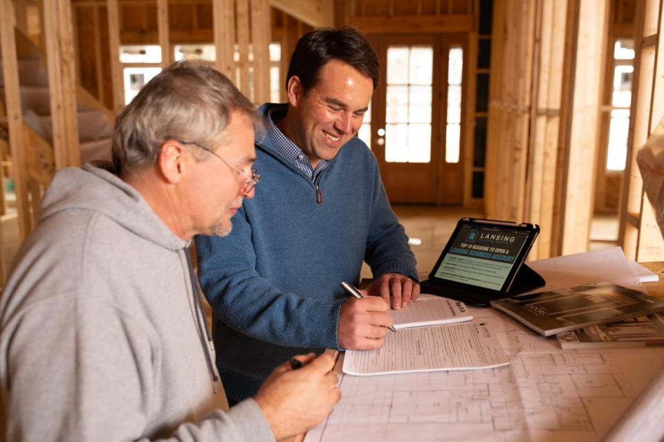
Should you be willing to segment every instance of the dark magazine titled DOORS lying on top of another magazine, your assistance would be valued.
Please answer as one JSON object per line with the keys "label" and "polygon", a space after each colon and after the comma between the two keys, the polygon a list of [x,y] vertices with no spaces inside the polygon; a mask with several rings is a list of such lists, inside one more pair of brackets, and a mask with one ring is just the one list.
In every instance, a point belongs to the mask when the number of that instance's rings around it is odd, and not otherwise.
{"label": "dark magazine titled DOORS lying on top of another magazine", "polygon": [[517,295],[491,302],[545,336],[664,310],[664,300],[609,282]]}

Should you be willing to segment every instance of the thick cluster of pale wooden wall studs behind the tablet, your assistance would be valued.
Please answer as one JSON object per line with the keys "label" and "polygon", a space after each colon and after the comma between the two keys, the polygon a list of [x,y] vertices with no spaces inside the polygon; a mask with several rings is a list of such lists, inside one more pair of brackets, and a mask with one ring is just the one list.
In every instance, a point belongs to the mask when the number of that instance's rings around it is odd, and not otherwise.
{"label": "thick cluster of pale wooden wall studs behind the tablet", "polygon": [[531,259],[585,251],[608,2],[494,8],[487,216],[540,224]]}

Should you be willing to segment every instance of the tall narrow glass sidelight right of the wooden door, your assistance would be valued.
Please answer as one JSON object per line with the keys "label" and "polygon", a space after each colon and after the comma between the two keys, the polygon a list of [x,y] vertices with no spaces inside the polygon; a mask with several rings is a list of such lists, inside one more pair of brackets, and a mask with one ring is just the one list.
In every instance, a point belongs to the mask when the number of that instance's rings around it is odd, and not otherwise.
{"label": "tall narrow glass sidelight right of the wooden door", "polygon": [[452,46],[449,57],[445,163],[459,163],[461,155],[461,82],[463,80],[463,49],[461,46]]}

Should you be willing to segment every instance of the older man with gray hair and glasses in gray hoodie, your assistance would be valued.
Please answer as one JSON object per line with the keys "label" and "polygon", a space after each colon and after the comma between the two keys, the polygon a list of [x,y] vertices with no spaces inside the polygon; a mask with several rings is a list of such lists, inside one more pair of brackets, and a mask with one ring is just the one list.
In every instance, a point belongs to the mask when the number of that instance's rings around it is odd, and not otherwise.
{"label": "older man with gray hair and glasses in gray hoodie", "polygon": [[176,64],[116,125],[113,165],[58,172],[0,300],[7,439],[282,439],[339,399],[329,356],[284,363],[227,412],[188,247],[253,196],[255,108]]}

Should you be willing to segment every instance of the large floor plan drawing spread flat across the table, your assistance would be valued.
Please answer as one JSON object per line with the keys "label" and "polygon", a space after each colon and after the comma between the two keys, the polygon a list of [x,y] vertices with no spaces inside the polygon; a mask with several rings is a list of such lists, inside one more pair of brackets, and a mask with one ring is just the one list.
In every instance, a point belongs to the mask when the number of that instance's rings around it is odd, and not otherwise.
{"label": "large floor plan drawing spread flat across the table", "polygon": [[492,309],[472,312],[510,365],[344,375],[342,399],[306,441],[595,441],[664,367],[664,349],[561,350]]}

